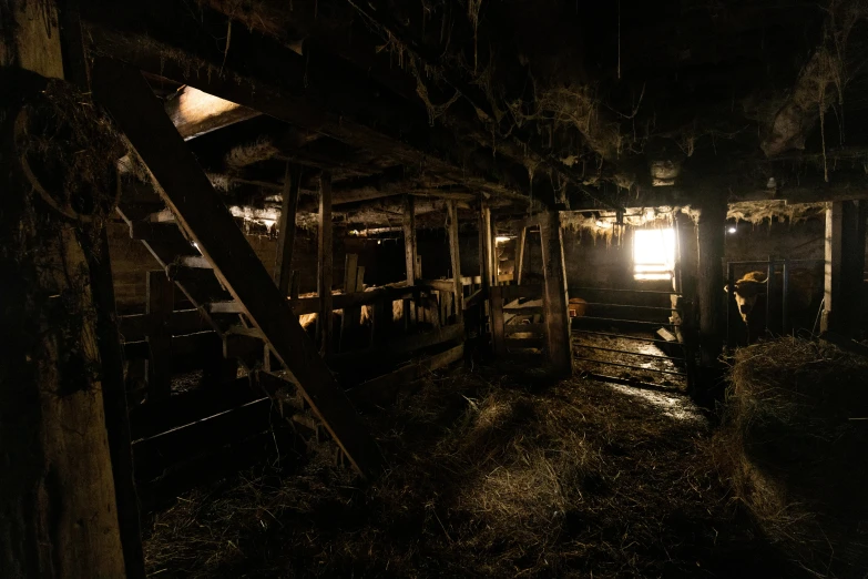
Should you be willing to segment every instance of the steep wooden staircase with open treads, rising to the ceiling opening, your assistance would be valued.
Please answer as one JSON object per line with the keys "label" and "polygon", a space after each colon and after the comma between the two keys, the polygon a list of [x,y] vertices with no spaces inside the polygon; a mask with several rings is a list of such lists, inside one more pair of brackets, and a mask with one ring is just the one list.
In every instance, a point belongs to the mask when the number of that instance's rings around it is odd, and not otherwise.
{"label": "steep wooden staircase with open treads, rising to the ceiling opening", "polygon": [[99,60],[93,93],[147,165],[175,220],[155,222],[122,205],[133,237],[222,336],[225,354],[267,348],[346,459],[362,476],[376,474],[381,455],[374,439],[141,73]]}

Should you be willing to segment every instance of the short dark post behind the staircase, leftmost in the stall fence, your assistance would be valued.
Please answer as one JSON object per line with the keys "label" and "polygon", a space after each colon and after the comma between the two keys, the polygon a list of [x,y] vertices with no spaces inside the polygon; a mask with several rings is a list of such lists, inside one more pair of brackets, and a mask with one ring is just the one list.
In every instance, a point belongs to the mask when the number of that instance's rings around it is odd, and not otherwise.
{"label": "short dark post behind the staircase, leftmost in the stall fence", "polygon": [[163,271],[147,272],[146,288],[147,399],[169,398],[172,394],[172,334],[169,324],[175,308],[175,284]]}

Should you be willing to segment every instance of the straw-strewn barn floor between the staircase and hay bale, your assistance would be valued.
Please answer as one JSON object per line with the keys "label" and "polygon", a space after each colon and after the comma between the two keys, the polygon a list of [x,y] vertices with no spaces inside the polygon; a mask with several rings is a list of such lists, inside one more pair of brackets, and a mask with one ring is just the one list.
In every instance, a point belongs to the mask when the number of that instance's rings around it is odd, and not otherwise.
{"label": "straw-strewn barn floor between the staircase and hay bale", "polygon": [[152,516],[151,577],[796,577],[727,496],[685,397],[518,368],[367,420],[390,469],[274,464]]}

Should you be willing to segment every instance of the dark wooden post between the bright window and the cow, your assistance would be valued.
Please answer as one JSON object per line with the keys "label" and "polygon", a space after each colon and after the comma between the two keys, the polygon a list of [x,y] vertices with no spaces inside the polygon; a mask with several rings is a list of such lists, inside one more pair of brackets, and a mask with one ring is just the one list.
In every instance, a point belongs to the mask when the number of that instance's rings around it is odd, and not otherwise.
{"label": "dark wooden post between the bright window and the cow", "polygon": [[726,199],[709,199],[701,207],[697,224],[696,297],[699,303],[699,348],[704,366],[714,366],[723,349],[725,227]]}

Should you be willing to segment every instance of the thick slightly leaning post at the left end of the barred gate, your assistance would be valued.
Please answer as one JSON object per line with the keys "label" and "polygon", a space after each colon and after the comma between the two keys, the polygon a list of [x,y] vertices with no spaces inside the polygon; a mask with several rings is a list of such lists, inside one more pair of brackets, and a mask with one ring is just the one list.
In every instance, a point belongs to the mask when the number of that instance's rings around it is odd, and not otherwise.
{"label": "thick slightly leaning post at the left end of the barred gate", "polygon": [[573,353],[566,296],[566,266],[563,261],[563,232],[560,214],[556,211],[540,215],[540,242],[548,363],[555,376],[566,377],[573,372]]}

